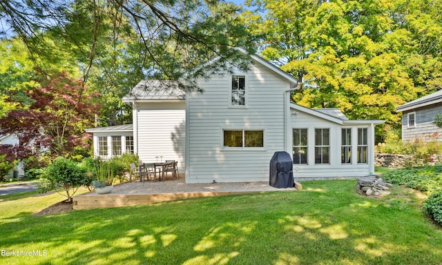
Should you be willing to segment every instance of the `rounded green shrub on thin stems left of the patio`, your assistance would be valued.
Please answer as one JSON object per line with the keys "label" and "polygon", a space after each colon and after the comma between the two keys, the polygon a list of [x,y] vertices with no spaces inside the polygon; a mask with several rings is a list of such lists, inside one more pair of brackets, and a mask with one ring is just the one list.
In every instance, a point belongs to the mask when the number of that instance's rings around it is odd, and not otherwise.
{"label": "rounded green shrub on thin stems left of the patio", "polygon": [[66,193],[65,196],[68,198],[68,202],[72,201],[72,196],[77,192],[79,187],[88,186],[90,184],[86,170],[81,168],[75,161],[64,157],[57,157],[57,159],[48,166],[44,174],[44,179],[47,179],[56,190],[58,187],[62,188]]}

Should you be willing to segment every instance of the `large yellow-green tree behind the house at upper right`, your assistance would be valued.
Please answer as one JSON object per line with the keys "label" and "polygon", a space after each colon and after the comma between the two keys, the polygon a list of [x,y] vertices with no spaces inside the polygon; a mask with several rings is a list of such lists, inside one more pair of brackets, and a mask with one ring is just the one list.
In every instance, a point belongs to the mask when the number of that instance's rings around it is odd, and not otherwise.
{"label": "large yellow-green tree behind the house at upper right", "polygon": [[[258,10],[244,17],[263,36],[262,56],[300,81],[293,95],[298,104],[340,108],[350,119],[385,119],[400,128],[396,106],[441,88],[439,2],[247,4]],[[376,130],[382,138],[383,126]]]}

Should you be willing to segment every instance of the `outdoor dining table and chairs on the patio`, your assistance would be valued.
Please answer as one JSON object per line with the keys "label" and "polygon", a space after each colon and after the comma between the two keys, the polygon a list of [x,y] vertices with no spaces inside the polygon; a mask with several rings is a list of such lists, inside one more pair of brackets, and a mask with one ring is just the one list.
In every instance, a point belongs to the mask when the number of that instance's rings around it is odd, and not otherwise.
{"label": "outdoor dining table and chairs on the patio", "polygon": [[140,182],[153,180],[157,181],[157,174],[158,179],[161,179],[164,181],[166,179],[168,173],[172,173],[173,179],[176,179],[178,177],[178,167],[177,167],[178,161],[175,160],[166,160],[164,162],[157,162],[157,163],[140,163],[137,166],[135,164],[131,164],[131,179],[132,176],[134,176],[134,179],[136,177],[140,178]]}

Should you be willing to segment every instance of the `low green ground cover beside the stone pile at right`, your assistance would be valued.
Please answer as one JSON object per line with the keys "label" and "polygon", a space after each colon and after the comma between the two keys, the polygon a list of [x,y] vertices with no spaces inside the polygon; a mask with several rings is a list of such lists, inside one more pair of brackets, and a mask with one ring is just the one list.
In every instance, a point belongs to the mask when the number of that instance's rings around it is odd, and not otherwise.
{"label": "low green ground cover beside the stone pile at right", "polygon": [[382,175],[390,183],[414,188],[429,195],[423,202],[425,212],[442,224],[442,165],[402,168]]}

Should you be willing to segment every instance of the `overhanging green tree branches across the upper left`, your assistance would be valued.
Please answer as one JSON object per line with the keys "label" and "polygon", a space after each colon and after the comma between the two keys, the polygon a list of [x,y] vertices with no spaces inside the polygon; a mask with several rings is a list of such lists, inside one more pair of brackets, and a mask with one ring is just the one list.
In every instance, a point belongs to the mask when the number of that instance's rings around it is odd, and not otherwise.
{"label": "overhanging green tree branches across the upper left", "polygon": [[119,63],[136,55],[135,72],[185,80],[188,89],[196,88],[195,78],[229,70],[231,63],[247,68],[247,57],[235,49],[253,51],[239,11],[233,3],[213,0],[0,2],[10,26],[3,37],[21,37],[35,61],[61,60],[59,55],[73,52],[84,82],[97,68],[103,70],[95,75],[115,81],[108,59]]}

